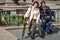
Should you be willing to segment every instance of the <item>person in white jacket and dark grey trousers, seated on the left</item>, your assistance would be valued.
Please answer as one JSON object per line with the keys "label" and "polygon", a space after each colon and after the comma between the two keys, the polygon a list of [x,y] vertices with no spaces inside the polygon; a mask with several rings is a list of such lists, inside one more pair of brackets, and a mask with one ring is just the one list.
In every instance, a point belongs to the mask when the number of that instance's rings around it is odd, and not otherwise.
{"label": "person in white jacket and dark grey trousers, seated on the left", "polygon": [[36,24],[39,23],[39,19],[40,19],[40,11],[39,11],[38,6],[39,6],[39,3],[37,1],[35,1],[33,3],[33,6],[28,8],[28,11],[26,12],[26,14],[24,16],[24,18],[29,17],[29,23],[31,22],[31,24],[33,25],[33,29],[31,32],[31,34],[32,34],[31,38],[32,39],[34,39]]}

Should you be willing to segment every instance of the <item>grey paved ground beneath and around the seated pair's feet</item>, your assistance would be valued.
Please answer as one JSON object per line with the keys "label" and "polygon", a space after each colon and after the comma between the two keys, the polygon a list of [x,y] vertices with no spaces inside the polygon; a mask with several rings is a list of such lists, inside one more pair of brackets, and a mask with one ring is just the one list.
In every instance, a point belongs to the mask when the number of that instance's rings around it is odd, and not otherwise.
{"label": "grey paved ground beneath and around the seated pair's feet", "polygon": [[[17,29],[17,30],[8,30],[11,32],[13,35],[19,38],[19,40],[22,40],[22,29]],[[24,40],[32,40],[30,37],[27,36],[28,31],[26,30]],[[60,28],[53,28],[53,33],[48,34],[45,36],[45,39],[41,37],[36,37],[35,40],[60,40]]]}

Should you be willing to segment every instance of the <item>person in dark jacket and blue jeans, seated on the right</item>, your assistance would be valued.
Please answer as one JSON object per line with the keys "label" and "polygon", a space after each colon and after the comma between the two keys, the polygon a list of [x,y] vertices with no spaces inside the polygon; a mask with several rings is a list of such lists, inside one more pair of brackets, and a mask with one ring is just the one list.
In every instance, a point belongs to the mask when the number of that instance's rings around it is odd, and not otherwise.
{"label": "person in dark jacket and blue jeans, seated on the right", "polygon": [[47,35],[52,24],[51,9],[46,6],[46,2],[42,1],[40,9],[40,19],[44,33]]}

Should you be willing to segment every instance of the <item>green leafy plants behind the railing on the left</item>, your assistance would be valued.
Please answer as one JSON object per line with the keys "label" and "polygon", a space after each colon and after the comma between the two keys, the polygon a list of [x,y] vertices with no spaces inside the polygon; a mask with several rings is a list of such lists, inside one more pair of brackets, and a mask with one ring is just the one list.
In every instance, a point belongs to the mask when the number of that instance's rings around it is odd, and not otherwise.
{"label": "green leafy plants behind the railing on the left", "polygon": [[15,16],[15,15],[10,15],[9,14],[2,14],[2,16],[5,17],[5,21],[0,21],[0,25],[19,25],[20,24],[24,24],[26,21],[25,19],[23,18],[23,16],[19,16],[19,19],[18,19],[18,16]]}

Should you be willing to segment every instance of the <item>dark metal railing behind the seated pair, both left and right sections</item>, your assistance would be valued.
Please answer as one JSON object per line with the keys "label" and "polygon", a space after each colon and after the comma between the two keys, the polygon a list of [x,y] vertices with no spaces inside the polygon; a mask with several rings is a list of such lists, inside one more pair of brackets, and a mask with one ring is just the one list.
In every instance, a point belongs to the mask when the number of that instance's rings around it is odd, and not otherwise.
{"label": "dark metal railing behind the seated pair, both left and right sections", "polygon": [[[60,22],[60,9],[51,9],[55,13],[55,21]],[[26,9],[16,10],[0,10],[0,19],[5,21],[6,25],[21,25],[23,24],[23,15]]]}

